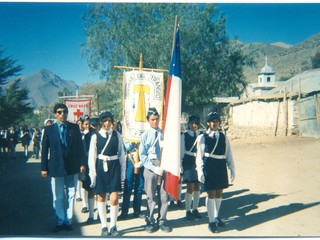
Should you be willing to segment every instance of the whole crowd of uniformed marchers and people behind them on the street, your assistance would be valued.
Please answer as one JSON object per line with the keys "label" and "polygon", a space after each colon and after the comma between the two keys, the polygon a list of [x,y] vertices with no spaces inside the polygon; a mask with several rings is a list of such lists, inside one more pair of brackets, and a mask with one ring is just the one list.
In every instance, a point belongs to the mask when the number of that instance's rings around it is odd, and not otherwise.
{"label": "whole crowd of uniformed marchers and people behind them on the street", "polygon": [[[129,218],[131,195],[133,217],[145,219],[147,232],[159,229],[171,232],[167,212],[174,199],[164,187],[166,172],[161,169],[162,130],[157,109],[148,110],[146,117],[150,128],[141,135],[139,143],[123,138],[121,123],[111,112],[101,112],[97,117],[82,116],[76,124],[67,121],[68,108],[62,103],[54,106],[53,113],[55,120],[47,119],[43,129],[1,130],[1,141],[9,142],[1,144],[2,154],[14,157],[15,145],[21,141],[25,156],[33,142],[32,157],[41,157],[41,175],[50,177],[56,218],[53,232],[73,229],[74,202],[82,201],[82,213],[88,214],[86,224],[94,222],[97,208],[101,236],[119,236],[117,221]],[[198,211],[200,189],[205,191],[208,229],[215,233],[225,227],[219,211],[223,189],[229,186],[229,179],[234,180],[235,167],[229,140],[219,131],[219,114],[211,112],[205,121],[207,129],[200,131],[200,117],[189,115],[188,128],[181,134],[177,206],[185,209],[186,221],[201,218],[203,214]],[[184,205],[182,184],[186,185]],[[141,211],[143,194],[147,201],[146,213]],[[65,199],[67,204],[64,204]]]}

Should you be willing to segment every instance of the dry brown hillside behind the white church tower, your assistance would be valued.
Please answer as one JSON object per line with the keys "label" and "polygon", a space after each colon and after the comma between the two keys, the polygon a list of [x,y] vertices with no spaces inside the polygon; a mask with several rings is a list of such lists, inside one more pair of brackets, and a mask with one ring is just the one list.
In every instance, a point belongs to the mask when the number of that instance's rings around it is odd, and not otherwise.
{"label": "dry brown hillside behind the white church tower", "polygon": [[244,67],[247,82],[257,82],[257,74],[265,65],[266,57],[268,65],[276,73],[276,81],[279,81],[311,69],[311,58],[320,50],[320,33],[295,46],[280,42],[245,44],[237,41],[236,44],[240,44],[244,52],[257,63],[252,68]]}

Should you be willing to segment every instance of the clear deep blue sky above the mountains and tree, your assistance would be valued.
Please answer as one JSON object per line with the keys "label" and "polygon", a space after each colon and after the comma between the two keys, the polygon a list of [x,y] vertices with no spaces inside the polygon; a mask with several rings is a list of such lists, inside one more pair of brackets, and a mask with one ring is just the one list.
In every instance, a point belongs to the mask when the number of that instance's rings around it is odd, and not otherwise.
{"label": "clear deep blue sky above the mountains and tree", "polygon": [[[320,32],[320,3],[218,3],[231,39],[296,45]],[[0,49],[31,76],[46,68],[78,85],[99,80],[81,56],[85,2],[1,2]]]}

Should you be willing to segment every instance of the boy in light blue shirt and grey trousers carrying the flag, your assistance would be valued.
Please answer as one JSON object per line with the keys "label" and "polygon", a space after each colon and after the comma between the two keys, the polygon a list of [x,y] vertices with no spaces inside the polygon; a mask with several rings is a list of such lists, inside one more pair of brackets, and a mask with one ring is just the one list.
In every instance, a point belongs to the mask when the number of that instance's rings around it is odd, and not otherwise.
{"label": "boy in light blue shirt and grey trousers carrying the flag", "polygon": [[[164,232],[171,232],[167,226],[169,195],[164,189],[165,172],[160,169],[160,142],[162,131],[159,128],[160,116],[156,108],[150,108],[147,113],[150,128],[140,137],[139,156],[144,166],[144,186],[147,195],[148,215],[146,231],[155,232],[160,228]],[[160,209],[158,221],[154,219],[155,207]]]}

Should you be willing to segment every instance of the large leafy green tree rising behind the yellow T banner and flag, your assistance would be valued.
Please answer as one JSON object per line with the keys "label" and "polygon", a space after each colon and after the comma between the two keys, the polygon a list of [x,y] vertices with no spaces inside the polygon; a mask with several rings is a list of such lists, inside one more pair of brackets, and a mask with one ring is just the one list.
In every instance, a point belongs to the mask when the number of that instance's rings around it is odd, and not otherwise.
{"label": "large leafy green tree rising behind the yellow T banner and flag", "polygon": [[[118,87],[115,65],[168,69],[173,24],[179,16],[184,111],[199,111],[214,96],[239,95],[246,83],[242,67],[249,63],[232,44],[225,17],[214,4],[97,4],[84,15],[83,54],[90,69]],[[119,95],[119,93],[116,95]],[[121,96],[121,95],[120,95]]]}

